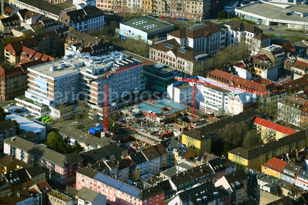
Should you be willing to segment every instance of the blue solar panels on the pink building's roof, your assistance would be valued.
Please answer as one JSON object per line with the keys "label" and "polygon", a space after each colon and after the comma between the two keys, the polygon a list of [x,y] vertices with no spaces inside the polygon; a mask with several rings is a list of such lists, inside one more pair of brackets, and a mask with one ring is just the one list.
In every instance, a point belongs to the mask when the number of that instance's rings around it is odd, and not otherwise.
{"label": "blue solar panels on the pink building's roof", "polygon": [[122,191],[122,192],[125,192],[133,197],[136,197],[137,199],[140,199],[140,190],[135,188],[135,187],[132,187],[124,182],[121,182],[117,179],[114,179],[112,177],[109,177],[107,175],[104,175],[103,173],[97,173],[95,175],[95,177],[93,177],[93,179],[101,182],[101,183],[104,183],[110,187],[113,187],[113,188],[116,188],[117,190],[119,191]]}

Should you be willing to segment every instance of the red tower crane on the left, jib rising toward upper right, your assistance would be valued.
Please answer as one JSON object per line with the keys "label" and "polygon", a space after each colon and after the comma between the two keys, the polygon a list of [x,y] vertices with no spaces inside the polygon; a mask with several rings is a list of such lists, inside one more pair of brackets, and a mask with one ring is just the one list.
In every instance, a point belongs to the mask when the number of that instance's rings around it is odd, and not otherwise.
{"label": "red tower crane on the left, jib rising toward upper right", "polygon": [[121,72],[125,72],[127,70],[131,70],[133,68],[137,68],[137,67],[140,67],[140,66],[143,66],[143,65],[147,65],[147,64],[152,63],[152,62],[157,62],[157,61],[164,59],[164,58],[167,58],[167,57],[169,57],[169,56],[166,55],[166,56],[161,57],[161,58],[156,58],[155,60],[147,60],[147,61],[137,63],[137,64],[134,64],[134,65],[125,66],[125,67],[119,68],[117,70],[108,71],[104,74],[104,76],[99,77],[99,78],[95,78],[95,79],[91,79],[89,81],[89,82],[92,82],[92,81],[98,82],[100,79],[105,79],[105,84],[104,84],[104,115],[103,115],[104,132],[107,132],[107,130],[108,130],[108,111],[109,111],[108,110],[108,107],[109,107],[109,85],[108,85],[108,81],[107,81],[108,76],[118,74],[118,73],[121,73]]}

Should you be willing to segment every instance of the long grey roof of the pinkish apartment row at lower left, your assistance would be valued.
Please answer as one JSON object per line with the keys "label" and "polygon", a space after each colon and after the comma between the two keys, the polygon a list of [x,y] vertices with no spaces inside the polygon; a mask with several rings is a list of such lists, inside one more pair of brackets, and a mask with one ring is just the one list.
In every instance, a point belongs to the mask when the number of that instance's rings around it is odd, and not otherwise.
{"label": "long grey roof of the pinkish apartment row at lower left", "polygon": [[[16,139],[14,139],[16,138]],[[12,139],[14,139],[12,141]],[[56,165],[61,167],[67,167],[69,165],[83,161],[77,152],[71,154],[63,155],[59,152],[51,150],[43,145],[35,144],[26,139],[22,139],[18,136],[5,139],[3,143],[7,143],[11,146],[17,147],[23,151],[26,151],[30,154],[39,156],[40,158],[46,159]]]}

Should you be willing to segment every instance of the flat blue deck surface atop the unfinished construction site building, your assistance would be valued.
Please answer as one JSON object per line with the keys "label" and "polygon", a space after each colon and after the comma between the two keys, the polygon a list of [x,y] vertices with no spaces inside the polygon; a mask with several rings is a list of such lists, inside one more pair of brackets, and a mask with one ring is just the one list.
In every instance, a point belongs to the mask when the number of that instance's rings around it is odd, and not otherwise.
{"label": "flat blue deck surface atop the unfinished construction site building", "polygon": [[147,101],[147,102],[139,104],[138,109],[140,109],[141,111],[147,111],[147,112],[152,111],[152,112],[155,112],[156,114],[159,114],[159,113],[165,113],[163,110],[161,110],[162,108],[171,107],[172,110],[168,110],[168,112],[166,112],[166,114],[168,113],[169,115],[186,109],[186,106],[181,105],[177,102],[168,100],[167,98],[158,98],[153,101],[154,103]]}

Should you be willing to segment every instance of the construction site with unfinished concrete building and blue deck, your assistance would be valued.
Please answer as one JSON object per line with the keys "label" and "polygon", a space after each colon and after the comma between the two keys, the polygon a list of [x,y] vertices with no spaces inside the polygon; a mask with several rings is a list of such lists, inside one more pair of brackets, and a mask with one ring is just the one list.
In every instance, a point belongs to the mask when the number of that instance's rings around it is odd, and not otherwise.
{"label": "construction site with unfinished concrete building and blue deck", "polygon": [[125,107],[121,110],[119,121],[123,127],[131,130],[130,134],[136,141],[141,141],[140,144],[145,146],[168,138],[177,139],[188,129],[203,127],[216,121],[198,110],[193,123],[191,118],[191,107],[161,97]]}

